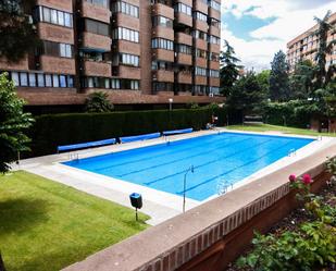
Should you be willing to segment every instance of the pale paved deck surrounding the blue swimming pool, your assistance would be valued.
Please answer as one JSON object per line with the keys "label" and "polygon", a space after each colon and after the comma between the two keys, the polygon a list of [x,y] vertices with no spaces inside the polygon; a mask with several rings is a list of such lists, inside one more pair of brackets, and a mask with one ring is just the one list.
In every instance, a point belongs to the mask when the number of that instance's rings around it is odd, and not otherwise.
{"label": "pale paved deck surrounding the blue swimming pool", "polygon": [[[215,131],[200,131],[191,134],[176,135],[170,136],[169,140],[181,140],[192,138],[202,135],[217,134],[217,133],[242,133],[242,134],[258,134],[258,135],[277,135],[277,136],[286,136],[286,137],[301,137],[301,138],[313,138],[312,136],[297,136],[297,135],[288,135],[276,132],[270,133],[254,133],[254,132],[240,132],[240,131],[227,131],[225,128],[216,128]],[[169,194],[165,192],[155,190],[149,187],[140,186],[137,184],[124,182],[122,180],[116,180],[112,177],[108,177],[104,175],[96,174],[92,172],[75,169],[72,167],[67,167],[65,164],[61,164],[61,162],[72,160],[71,158],[78,157],[79,159],[87,157],[95,157],[99,155],[105,155],[111,152],[117,152],[139,147],[152,146],[157,144],[165,143],[167,139],[164,137],[149,139],[146,141],[135,141],[127,143],[121,145],[112,145],[94,149],[85,149],[79,151],[71,151],[65,153],[58,153],[32,159],[25,159],[20,162],[18,165],[13,164],[13,170],[25,170],[32,172],[34,174],[50,178],[52,181],[69,185],[78,190],[83,190],[85,193],[98,196],[100,198],[104,198],[111,200],[113,202],[117,202],[120,205],[130,207],[129,204],[129,194],[137,192],[142,195],[144,198],[144,207],[140,210],[141,212],[151,217],[147,223],[151,225],[157,225],[170,218],[173,218],[179,213],[182,213],[183,209],[183,198]],[[264,176],[274,172],[283,167],[286,167],[290,163],[294,163],[304,157],[311,156],[313,152],[328,148],[332,145],[336,145],[336,138],[333,137],[320,137],[318,140],[304,146],[299,149],[295,153],[290,153],[290,156],[285,157],[275,163],[256,172],[249,177],[240,181],[232,189],[235,189],[241,185],[250,183],[258,177]],[[182,180],[183,181],[183,180]],[[191,209],[200,204],[208,201],[216,196],[213,196],[203,201],[197,201],[187,198],[186,199],[186,210]]]}

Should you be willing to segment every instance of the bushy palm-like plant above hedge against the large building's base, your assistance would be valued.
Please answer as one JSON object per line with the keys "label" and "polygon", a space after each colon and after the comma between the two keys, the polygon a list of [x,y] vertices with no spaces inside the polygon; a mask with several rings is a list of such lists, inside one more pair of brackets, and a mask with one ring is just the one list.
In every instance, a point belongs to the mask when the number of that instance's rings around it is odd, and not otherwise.
{"label": "bushy palm-like plant above hedge against the large building's base", "polygon": [[86,99],[86,111],[90,113],[104,113],[113,111],[109,95],[102,91],[92,93]]}

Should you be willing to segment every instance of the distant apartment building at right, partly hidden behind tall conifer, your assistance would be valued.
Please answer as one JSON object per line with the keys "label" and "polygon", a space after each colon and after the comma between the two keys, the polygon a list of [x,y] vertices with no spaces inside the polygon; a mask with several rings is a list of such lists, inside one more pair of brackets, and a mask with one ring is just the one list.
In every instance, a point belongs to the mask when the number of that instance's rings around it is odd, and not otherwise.
{"label": "distant apartment building at right, partly hidden behind tall conifer", "polygon": [[[336,26],[336,13],[332,14],[329,22]],[[303,34],[299,35],[295,39],[287,44],[287,62],[289,64],[290,72],[294,71],[295,65],[300,60],[311,60],[315,63],[315,57],[319,48],[319,38],[314,35],[318,29],[318,24],[308,29]],[[336,32],[329,32],[327,42],[336,39]],[[336,46],[334,47],[332,54],[326,58],[326,65],[336,64]]]}

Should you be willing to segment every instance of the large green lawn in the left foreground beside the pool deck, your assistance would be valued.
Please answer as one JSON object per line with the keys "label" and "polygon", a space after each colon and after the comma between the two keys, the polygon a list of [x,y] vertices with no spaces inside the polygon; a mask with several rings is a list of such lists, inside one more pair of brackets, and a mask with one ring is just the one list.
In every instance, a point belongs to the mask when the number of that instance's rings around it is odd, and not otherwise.
{"label": "large green lawn in the left foreground beside the pool deck", "polygon": [[0,249],[8,271],[52,271],[147,227],[134,210],[27,172],[0,176]]}

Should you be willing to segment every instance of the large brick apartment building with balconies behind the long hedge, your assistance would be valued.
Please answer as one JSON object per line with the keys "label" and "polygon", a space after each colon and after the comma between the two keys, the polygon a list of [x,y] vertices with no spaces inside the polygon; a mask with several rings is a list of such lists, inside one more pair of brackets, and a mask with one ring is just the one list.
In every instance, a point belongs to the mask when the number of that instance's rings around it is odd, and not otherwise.
{"label": "large brick apartment building with balconies behind the long hedge", "polygon": [[219,0],[36,0],[25,12],[42,46],[0,71],[30,107],[80,106],[95,90],[115,104],[223,101],[220,10]]}

